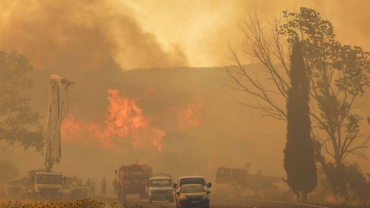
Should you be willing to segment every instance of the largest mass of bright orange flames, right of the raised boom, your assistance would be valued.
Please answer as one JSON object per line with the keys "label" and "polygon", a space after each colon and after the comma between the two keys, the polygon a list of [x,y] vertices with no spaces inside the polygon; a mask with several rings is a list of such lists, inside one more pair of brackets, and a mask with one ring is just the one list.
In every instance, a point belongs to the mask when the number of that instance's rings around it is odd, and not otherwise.
{"label": "largest mass of bright orange flames, right of the raised boom", "polygon": [[111,96],[108,97],[108,114],[104,121],[106,126],[85,124],[82,121],[75,121],[71,116],[62,123],[62,138],[68,142],[93,142],[104,147],[120,147],[122,141],[132,140],[132,147],[151,144],[161,151],[165,132],[149,124],[142,109],[136,105],[136,100],[120,97],[118,90],[109,89],[107,92]]}

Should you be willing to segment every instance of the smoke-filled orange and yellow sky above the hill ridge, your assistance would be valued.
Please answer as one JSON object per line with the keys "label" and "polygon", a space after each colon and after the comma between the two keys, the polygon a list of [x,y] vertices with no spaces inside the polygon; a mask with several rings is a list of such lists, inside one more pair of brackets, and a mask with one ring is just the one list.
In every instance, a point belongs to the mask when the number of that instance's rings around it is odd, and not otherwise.
{"label": "smoke-filled orange and yellow sky above the hill ridge", "polygon": [[[213,67],[228,38],[240,46],[237,22],[255,5],[267,15],[274,7],[323,8],[339,41],[370,50],[370,3],[362,0],[1,1],[0,41],[2,49],[17,50],[46,68],[54,67],[56,57],[61,64],[89,60],[92,67],[113,58],[124,70]],[[36,46],[48,53],[33,51]]]}

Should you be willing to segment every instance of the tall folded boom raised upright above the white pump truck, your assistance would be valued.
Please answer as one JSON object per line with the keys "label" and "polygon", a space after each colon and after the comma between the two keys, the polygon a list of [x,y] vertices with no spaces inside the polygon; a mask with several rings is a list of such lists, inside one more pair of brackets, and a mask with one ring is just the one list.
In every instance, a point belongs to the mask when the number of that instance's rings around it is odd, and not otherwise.
{"label": "tall folded boom raised upright above the white pump truck", "polygon": [[45,169],[51,171],[60,162],[60,125],[68,112],[68,87],[74,84],[52,74],[49,81],[49,111],[46,128]]}

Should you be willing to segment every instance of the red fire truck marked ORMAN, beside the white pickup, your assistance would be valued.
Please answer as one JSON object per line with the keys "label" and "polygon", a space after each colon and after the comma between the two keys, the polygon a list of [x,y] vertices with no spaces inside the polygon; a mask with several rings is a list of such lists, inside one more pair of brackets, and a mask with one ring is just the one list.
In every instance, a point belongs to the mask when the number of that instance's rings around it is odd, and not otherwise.
{"label": "red fire truck marked ORMAN, beside the white pickup", "polygon": [[147,198],[145,188],[148,176],[153,172],[153,168],[146,164],[140,164],[136,160],[135,164],[128,166],[122,165],[115,170],[118,177],[118,199],[126,200],[127,194],[139,194],[141,199]]}

